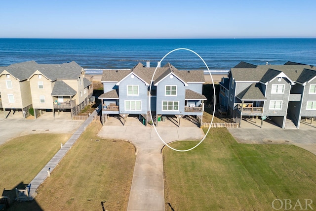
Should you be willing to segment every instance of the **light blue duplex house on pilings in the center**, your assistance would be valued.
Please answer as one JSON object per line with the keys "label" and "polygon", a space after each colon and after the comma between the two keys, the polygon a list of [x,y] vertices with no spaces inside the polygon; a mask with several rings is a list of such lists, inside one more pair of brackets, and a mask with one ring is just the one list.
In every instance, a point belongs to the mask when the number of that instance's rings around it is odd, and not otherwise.
{"label": "light blue duplex house on pilings in the center", "polygon": [[109,115],[116,115],[123,125],[128,116],[136,116],[146,126],[151,122],[151,110],[156,126],[166,116],[176,117],[178,126],[185,116],[201,124],[206,100],[202,95],[203,71],[177,70],[170,63],[163,67],[158,64],[154,75],[155,69],[148,62],[146,67],[138,63],[130,70],[103,71],[104,93],[99,96],[103,123]]}

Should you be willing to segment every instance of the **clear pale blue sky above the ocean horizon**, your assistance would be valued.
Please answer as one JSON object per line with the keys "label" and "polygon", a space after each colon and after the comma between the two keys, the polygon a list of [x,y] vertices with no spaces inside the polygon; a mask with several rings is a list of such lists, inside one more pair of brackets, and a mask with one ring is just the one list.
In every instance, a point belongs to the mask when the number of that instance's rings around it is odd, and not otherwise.
{"label": "clear pale blue sky above the ocean horizon", "polygon": [[0,38],[315,38],[316,0],[1,0]]}

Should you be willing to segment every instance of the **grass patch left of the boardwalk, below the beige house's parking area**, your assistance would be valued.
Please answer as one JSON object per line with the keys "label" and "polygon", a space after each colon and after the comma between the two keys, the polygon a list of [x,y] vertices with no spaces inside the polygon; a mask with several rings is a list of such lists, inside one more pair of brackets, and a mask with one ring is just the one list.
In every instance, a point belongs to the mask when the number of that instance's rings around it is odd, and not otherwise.
{"label": "grass patch left of the boardwalk, below the beige house's parking area", "polygon": [[71,134],[31,134],[0,145],[0,188],[15,198],[15,187],[29,184]]}

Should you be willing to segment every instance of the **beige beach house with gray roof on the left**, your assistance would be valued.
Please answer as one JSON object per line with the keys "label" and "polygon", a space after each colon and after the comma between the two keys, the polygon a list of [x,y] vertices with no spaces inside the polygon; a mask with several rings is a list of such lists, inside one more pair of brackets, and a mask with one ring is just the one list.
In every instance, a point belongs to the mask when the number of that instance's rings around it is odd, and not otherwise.
{"label": "beige beach house with gray roof on the left", "polygon": [[35,61],[0,67],[1,106],[5,118],[9,112],[21,112],[23,118],[34,110],[35,118],[44,112],[70,111],[76,115],[88,104],[92,83],[76,62],[38,64]]}

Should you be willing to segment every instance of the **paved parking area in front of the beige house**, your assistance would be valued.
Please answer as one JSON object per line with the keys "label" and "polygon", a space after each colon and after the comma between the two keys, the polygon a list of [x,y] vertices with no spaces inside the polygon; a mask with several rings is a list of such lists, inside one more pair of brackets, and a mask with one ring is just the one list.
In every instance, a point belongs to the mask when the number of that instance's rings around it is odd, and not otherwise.
{"label": "paved parking area in front of the beige house", "polygon": [[51,112],[46,112],[36,120],[23,120],[22,114],[19,114],[21,112],[10,114],[7,119],[4,119],[3,113],[0,113],[0,144],[21,135],[34,133],[73,134],[83,123],[80,120],[71,120],[69,112],[63,112],[60,115],[56,112],[55,120]]}

